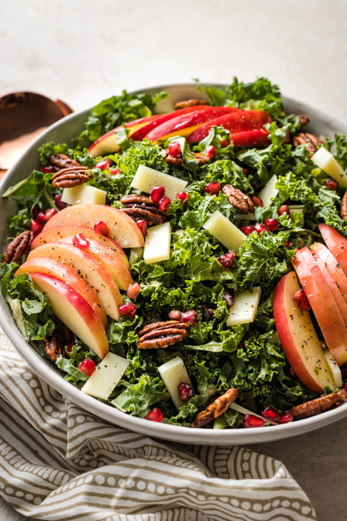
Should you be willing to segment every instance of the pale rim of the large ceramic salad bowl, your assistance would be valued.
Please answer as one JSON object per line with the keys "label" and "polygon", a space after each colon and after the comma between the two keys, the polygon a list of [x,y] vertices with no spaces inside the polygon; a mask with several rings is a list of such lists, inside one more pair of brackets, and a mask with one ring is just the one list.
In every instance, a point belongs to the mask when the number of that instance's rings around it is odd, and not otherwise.
{"label": "pale rim of the large ceramic salad bowl", "polygon": [[[204,83],[206,84],[206,83]],[[223,83],[212,83],[216,87],[225,88],[226,84]],[[166,85],[155,85],[153,87],[147,87],[144,89],[138,89],[131,91],[131,94],[137,94],[140,92],[153,92],[159,90],[169,90],[173,88],[189,88],[191,89],[194,83],[171,83]],[[284,104],[293,103],[299,104],[305,110],[311,111],[316,117],[323,121],[329,121],[329,124],[334,128],[344,128],[347,131],[347,125],[343,121],[330,116],[323,111],[312,107],[309,104],[296,100],[288,96],[283,96]],[[53,125],[45,129],[40,135],[38,135],[23,152],[22,156],[17,160],[5,174],[4,178],[0,182],[0,194],[3,193],[5,186],[8,181],[16,173],[21,160],[25,154],[36,149],[42,143],[46,142],[46,135],[49,135],[52,130],[60,127],[65,127],[73,119],[85,116],[92,107],[78,112],[72,113],[66,116]],[[343,130],[342,130],[343,131]],[[1,195],[0,195],[1,197]],[[0,203],[1,204],[1,203]],[[48,365],[45,359],[39,355],[34,348],[24,339],[21,332],[19,331],[13,317],[9,311],[7,303],[0,295],[0,307],[2,313],[0,313],[0,325],[2,326],[6,336],[14,344],[15,349],[22,358],[29,364],[35,374],[42,378],[47,384],[52,386],[56,391],[60,392],[63,396],[66,396],[74,404],[81,406],[89,414],[94,414],[101,419],[106,419],[112,424],[119,425],[128,430],[133,430],[138,433],[142,433],[147,436],[156,438],[162,438],[167,441],[178,441],[178,438],[183,438],[185,443],[192,444],[249,444],[249,443],[265,443],[273,441],[274,439],[289,438],[292,436],[298,436],[301,433],[308,432],[319,427],[323,427],[337,421],[338,419],[347,416],[347,402],[341,406],[325,411],[323,414],[319,414],[310,418],[302,419],[300,421],[294,421],[288,424],[276,425],[269,427],[258,427],[256,432],[253,429],[192,429],[190,427],[183,427],[178,425],[170,425],[165,423],[156,423],[153,421],[147,421],[144,418],[138,416],[132,416],[127,413],[123,413],[110,404],[103,403],[89,396],[70,382],[66,381],[64,377],[58,373],[58,371]],[[28,349],[29,347],[29,349]],[[48,370],[47,370],[48,368]],[[194,439],[191,439],[194,438]]]}

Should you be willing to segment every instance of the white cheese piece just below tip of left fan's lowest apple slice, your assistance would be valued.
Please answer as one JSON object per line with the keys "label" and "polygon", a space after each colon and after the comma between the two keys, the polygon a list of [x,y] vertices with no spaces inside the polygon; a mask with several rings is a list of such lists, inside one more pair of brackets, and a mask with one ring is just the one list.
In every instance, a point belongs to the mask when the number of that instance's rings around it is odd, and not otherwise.
{"label": "white cheese piece just below tip of left fan's lowest apple slice", "polygon": [[92,376],[85,382],[81,391],[107,400],[125,373],[128,363],[128,360],[121,356],[107,353]]}

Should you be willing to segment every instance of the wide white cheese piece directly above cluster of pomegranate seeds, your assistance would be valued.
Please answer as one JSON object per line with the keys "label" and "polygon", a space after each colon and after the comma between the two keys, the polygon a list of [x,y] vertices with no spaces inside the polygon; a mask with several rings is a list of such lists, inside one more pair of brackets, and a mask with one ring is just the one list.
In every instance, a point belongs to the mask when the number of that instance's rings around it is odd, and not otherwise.
{"label": "wide white cheese piece directly above cluster of pomegranate seeds", "polygon": [[165,188],[165,195],[169,199],[176,199],[178,192],[183,192],[188,181],[169,176],[167,173],[159,172],[148,166],[140,165],[136,170],[135,177],[131,183],[131,187],[142,190],[149,194],[153,187],[162,186]]}

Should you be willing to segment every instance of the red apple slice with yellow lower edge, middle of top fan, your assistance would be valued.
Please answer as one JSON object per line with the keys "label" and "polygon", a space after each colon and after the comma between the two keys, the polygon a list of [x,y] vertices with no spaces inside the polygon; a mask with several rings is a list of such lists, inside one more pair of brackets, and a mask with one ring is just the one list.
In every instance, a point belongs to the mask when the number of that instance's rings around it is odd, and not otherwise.
{"label": "red apple slice with yellow lower edge, middle of top fan", "polygon": [[[170,119],[162,125],[159,125],[155,129],[151,130],[145,135],[146,139],[150,141],[166,141],[173,135],[188,135],[193,132],[198,126],[203,123],[214,119],[223,114],[229,114],[236,112],[239,109],[236,107],[210,107],[208,106],[204,110],[193,110],[188,114],[183,114],[176,118]],[[191,130],[190,130],[191,129]]]}

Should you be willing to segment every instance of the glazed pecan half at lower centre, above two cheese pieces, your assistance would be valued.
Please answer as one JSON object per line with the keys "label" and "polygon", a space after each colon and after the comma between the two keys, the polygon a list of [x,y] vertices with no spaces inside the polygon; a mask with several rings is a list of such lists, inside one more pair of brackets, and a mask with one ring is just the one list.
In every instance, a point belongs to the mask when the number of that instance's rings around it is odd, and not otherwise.
{"label": "glazed pecan half at lower centre, above two cheese pieces", "polygon": [[164,349],[181,342],[187,336],[189,324],[179,320],[166,320],[148,324],[138,333],[138,349]]}

